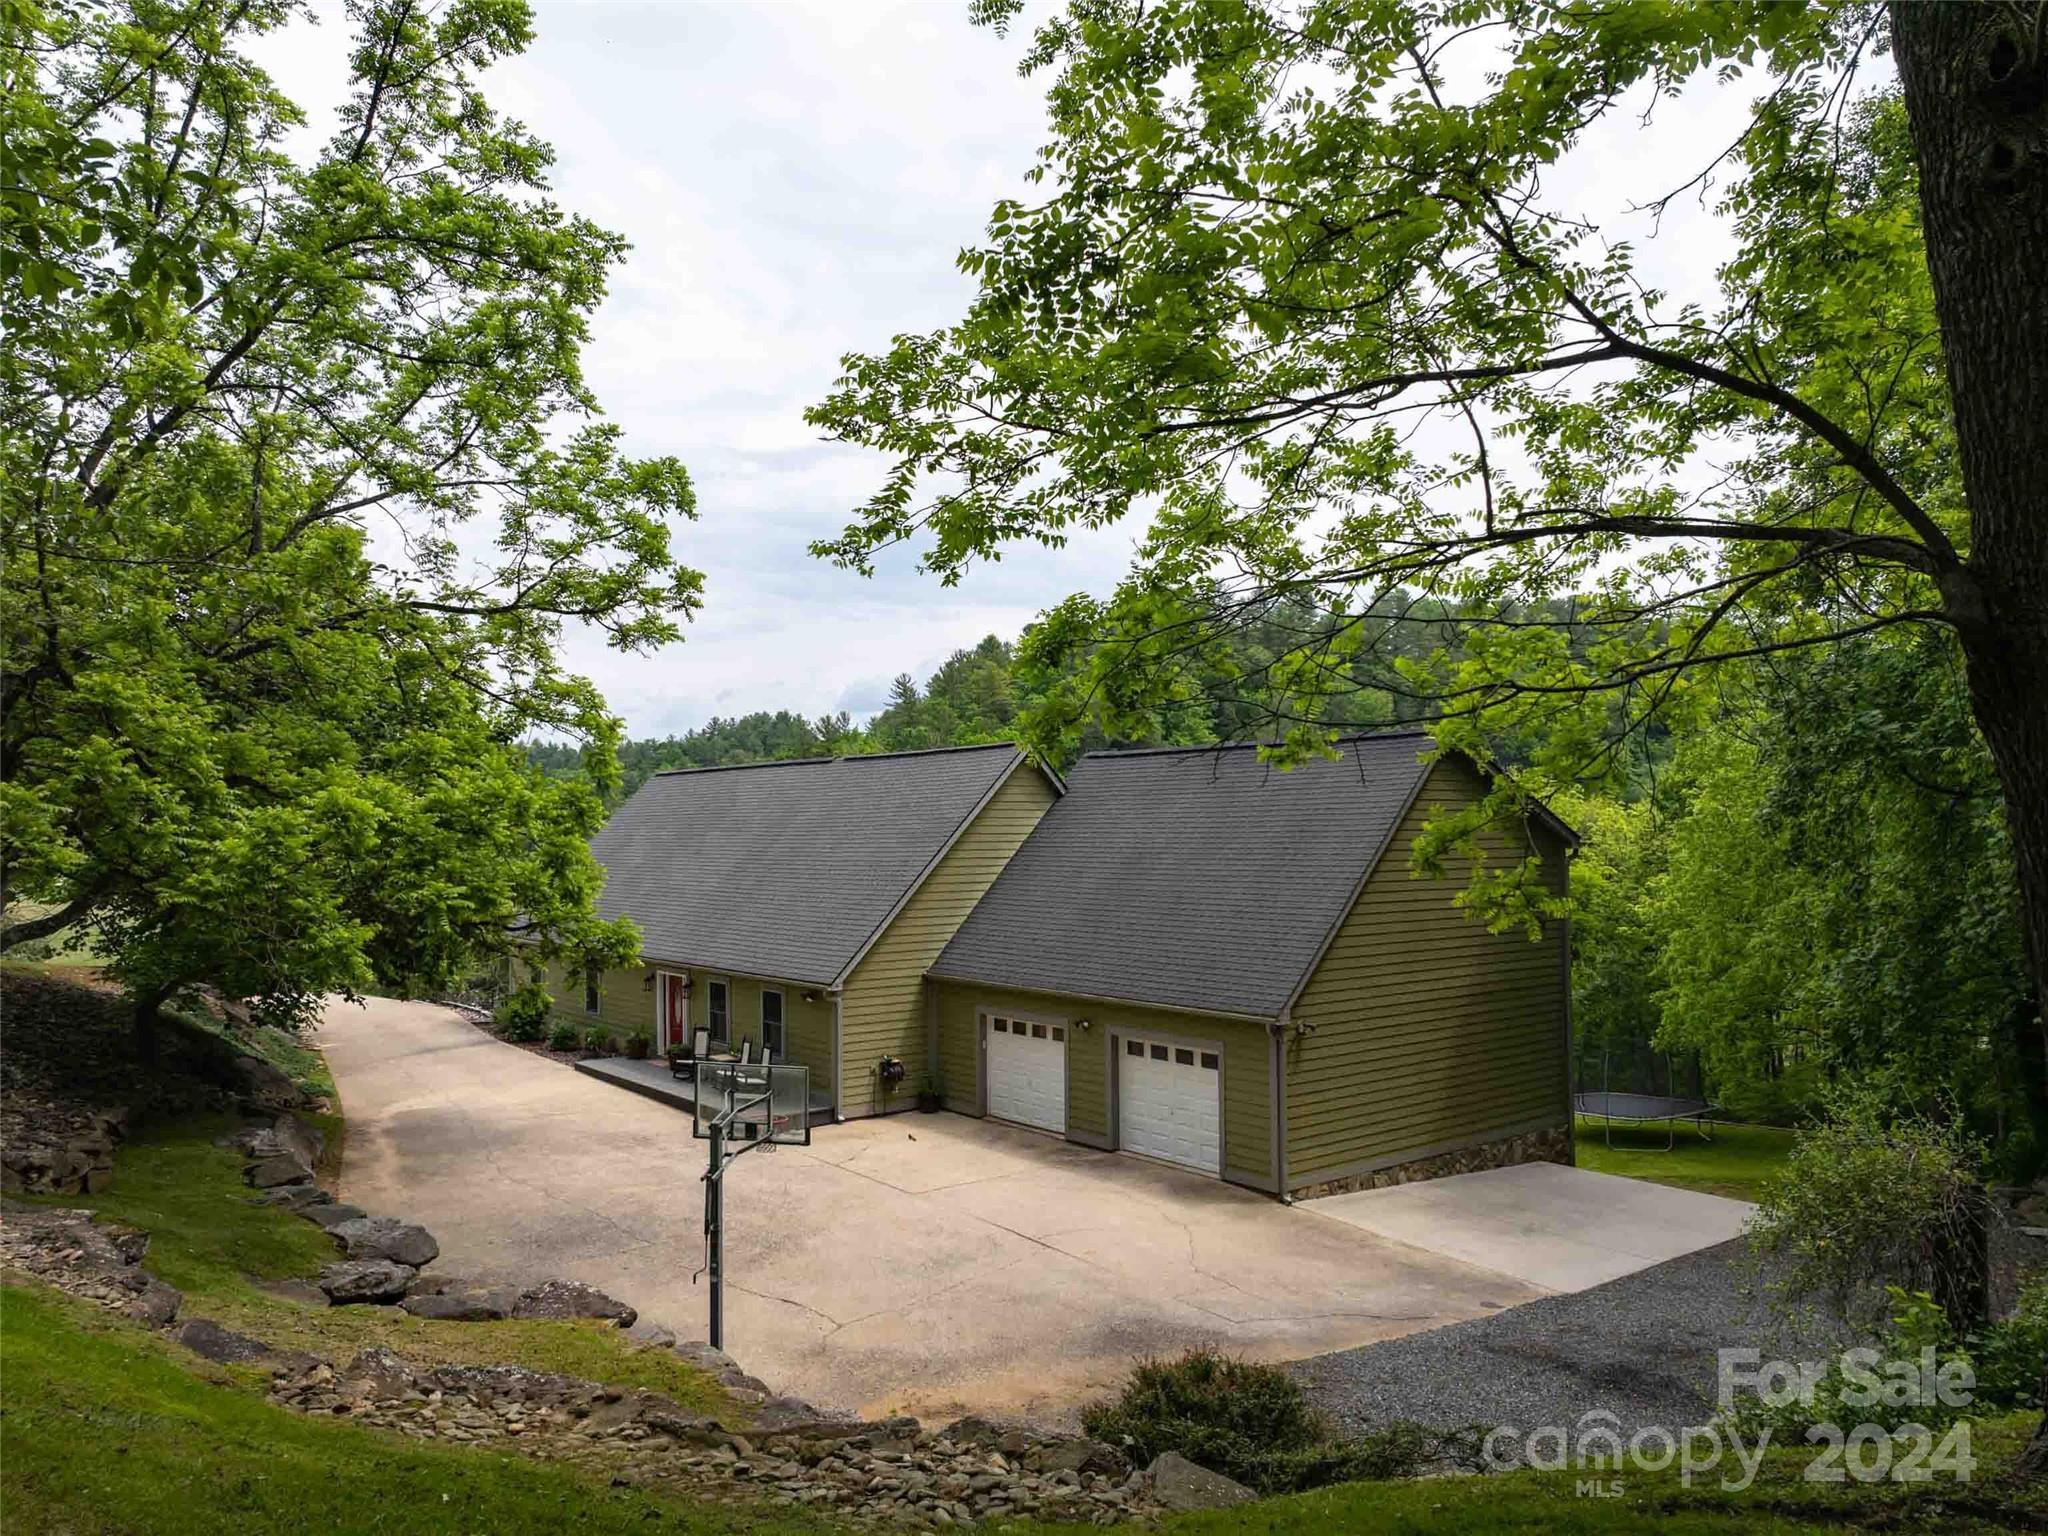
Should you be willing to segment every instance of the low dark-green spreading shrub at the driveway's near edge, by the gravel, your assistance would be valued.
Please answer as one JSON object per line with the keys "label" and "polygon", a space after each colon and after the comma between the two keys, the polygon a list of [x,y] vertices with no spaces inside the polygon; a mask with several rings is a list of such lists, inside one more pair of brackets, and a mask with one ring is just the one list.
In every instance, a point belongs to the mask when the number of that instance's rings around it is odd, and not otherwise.
{"label": "low dark-green spreading shrub at the driveway's near edge, by the gravel", "polygon": [[1176,1450],[1260,1493],[1409,1477],[1438,1450],[1413,1423],[1333,1440],[1284,1370],[1210,1350],[1139,1362],[1124,1391],[1083,1411],[1081,1425],[1141,1466]]}

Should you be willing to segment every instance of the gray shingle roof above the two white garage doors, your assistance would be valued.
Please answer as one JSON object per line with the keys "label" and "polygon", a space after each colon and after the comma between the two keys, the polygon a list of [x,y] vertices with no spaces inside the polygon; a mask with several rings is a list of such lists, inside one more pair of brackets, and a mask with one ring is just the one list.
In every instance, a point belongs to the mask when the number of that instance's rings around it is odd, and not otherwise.
{"label": "gray shingle roof above the two white garage doors", "polygon": [[932,975],[1274,1018],[1427,768],[1352,737],[1292,772],[1257,752],[1081,758]]}

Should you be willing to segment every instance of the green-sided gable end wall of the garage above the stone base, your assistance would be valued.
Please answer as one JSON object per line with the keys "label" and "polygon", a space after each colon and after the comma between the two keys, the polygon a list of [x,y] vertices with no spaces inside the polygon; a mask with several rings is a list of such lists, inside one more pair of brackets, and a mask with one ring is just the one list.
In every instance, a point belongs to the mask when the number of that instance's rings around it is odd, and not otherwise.
{"label": "green-sided gable end wall of the garage above the stone base", "polygon": [[[1405,1155],[1567,1124],[1565,924],[1489,934],[1452,899],[1470,877],[1413,877],[1430,813],[1481,793],[1458,758],[1430,770],[1300,999],[1288,1044],[1288,1186]],[[1489,860],[1520,858],[1520,831],[1487,831]],[[1565,848],[1538,834],[1542,872],[1563,891]]]}

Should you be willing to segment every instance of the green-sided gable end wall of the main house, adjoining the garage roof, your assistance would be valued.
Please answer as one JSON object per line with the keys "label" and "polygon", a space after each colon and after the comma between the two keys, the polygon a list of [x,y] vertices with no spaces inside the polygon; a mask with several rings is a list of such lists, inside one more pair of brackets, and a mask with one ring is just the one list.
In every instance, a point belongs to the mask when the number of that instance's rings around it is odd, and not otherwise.
{"label": "green-sided gable end wall of the main house, adjoining the garage roof", "polygon": [[[915,1104],[930,1040],[924,971],[1051,805],[1053,784],[1020,762],[854,967],[840,1004],[846,1061],[840,1114],[887,1114]],[[905,1067],[903,1081],[887,1094],[883,1057]]]}

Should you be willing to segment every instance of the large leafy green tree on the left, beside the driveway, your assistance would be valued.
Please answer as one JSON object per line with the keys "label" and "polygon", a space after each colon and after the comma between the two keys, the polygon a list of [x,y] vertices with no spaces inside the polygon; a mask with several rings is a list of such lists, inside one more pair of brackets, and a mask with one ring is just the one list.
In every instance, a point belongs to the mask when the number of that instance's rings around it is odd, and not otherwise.
{"label": "large leafy green tree on the left, beside the driveway", "polygon": [[477,86],[524,4],[352,0],[295,158],[246,49],[303,18],[6,10],[4,942],[96,928],[143,1016],[444,983],[514,932],[629,954],[586,848],[616,725],[555,641],[659,645],[698,600],[682,465],[623,457],[580,371],[625,244]]}

